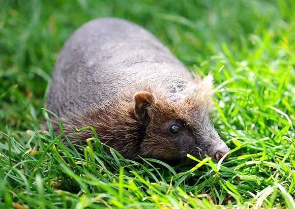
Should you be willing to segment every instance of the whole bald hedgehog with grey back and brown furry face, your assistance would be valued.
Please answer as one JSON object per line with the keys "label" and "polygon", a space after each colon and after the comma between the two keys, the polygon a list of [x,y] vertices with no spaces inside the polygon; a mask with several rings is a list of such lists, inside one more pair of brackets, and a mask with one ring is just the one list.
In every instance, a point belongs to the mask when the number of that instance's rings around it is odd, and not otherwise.
{"label": "whole bald hedgehog with grey back and brown furry face", "polygon": [[64,44],[47,109],[61,118],[74,144],[86,145],[93,136],[90,129],[74,130],[92,126],[102,143],[129,159],[220,159],[229,148],[208,116],[212,76],[195,77],[142,27],[96,19]]}

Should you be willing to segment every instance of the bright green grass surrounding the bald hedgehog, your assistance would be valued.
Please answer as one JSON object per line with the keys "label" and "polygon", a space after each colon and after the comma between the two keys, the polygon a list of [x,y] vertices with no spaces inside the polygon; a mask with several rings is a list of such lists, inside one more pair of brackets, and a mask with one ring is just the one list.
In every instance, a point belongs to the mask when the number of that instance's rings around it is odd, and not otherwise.
{"label": "bright green grass surrounding the bald hedgehog", "polygon": [[[0,208],[295,208],[294,0],[0,3]],[[230,158],[135,162],[95,137],[81,154],[40,130],[62,44],[101,16],[144,26],[213,73],[212,120]]]}

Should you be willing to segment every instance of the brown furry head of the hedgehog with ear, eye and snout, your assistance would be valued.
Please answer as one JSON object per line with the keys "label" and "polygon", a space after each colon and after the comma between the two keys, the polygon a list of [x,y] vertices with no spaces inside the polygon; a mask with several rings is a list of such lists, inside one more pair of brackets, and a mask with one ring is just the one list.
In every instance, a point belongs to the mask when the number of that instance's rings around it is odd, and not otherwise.
{"label": "brown furry head of the hedgehog with ear, eye and snout", "polygon": [[208,117],[209,102],[200,95],[178,104],[147,91],[136,93],[134,99],[135,116],[142,121],[144,133],[140,155],[179,161],[187,154],[220,159],[229,152]]}

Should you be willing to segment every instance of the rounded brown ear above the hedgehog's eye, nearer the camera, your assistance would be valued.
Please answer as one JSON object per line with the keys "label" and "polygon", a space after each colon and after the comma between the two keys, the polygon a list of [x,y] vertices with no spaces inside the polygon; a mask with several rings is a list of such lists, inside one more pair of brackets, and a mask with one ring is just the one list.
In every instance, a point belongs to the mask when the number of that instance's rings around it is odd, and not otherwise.
{"label": "rounded brown ear above the hedgehog's eye, nearer the camera", "polygon": [[154,98],[148,91],[138,91],[134,94],[134,115],[142,122],[148,122],[148,106],[152,105]]}

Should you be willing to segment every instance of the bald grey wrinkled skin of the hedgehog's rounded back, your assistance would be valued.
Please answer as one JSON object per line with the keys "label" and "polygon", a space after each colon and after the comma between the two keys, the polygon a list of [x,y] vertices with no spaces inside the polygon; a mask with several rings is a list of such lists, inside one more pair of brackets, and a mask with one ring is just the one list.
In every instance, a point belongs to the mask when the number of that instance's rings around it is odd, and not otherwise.
{"label": "bald grey wrinkled skin of the hedgehog's rounded back", "polygon": [[144,87],[171,99],[191,93],[187,69],[151,33],[116,18],[90,21],[65,43],[48,94],[47,108],[59,116],[86,111]]}

